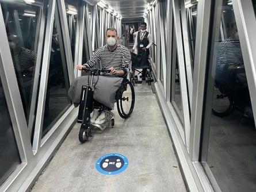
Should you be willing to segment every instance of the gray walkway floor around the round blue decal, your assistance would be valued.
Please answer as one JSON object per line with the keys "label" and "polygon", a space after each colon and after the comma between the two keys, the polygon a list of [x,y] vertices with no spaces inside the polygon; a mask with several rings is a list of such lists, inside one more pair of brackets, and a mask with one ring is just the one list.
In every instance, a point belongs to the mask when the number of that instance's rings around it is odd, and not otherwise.
{"label": "gray walkway floor around the round blue decal", "polygon": [[[39,177],[36,191],[186,191],[165,121],[151,86],[135,86],[131,117],[122,119],[114,109],[114,128],[93,129],[93,138],[78,140],[75,124],[56,155]],[[119,174],[105,175],[95,165],[109,153],[128,159]]]}

